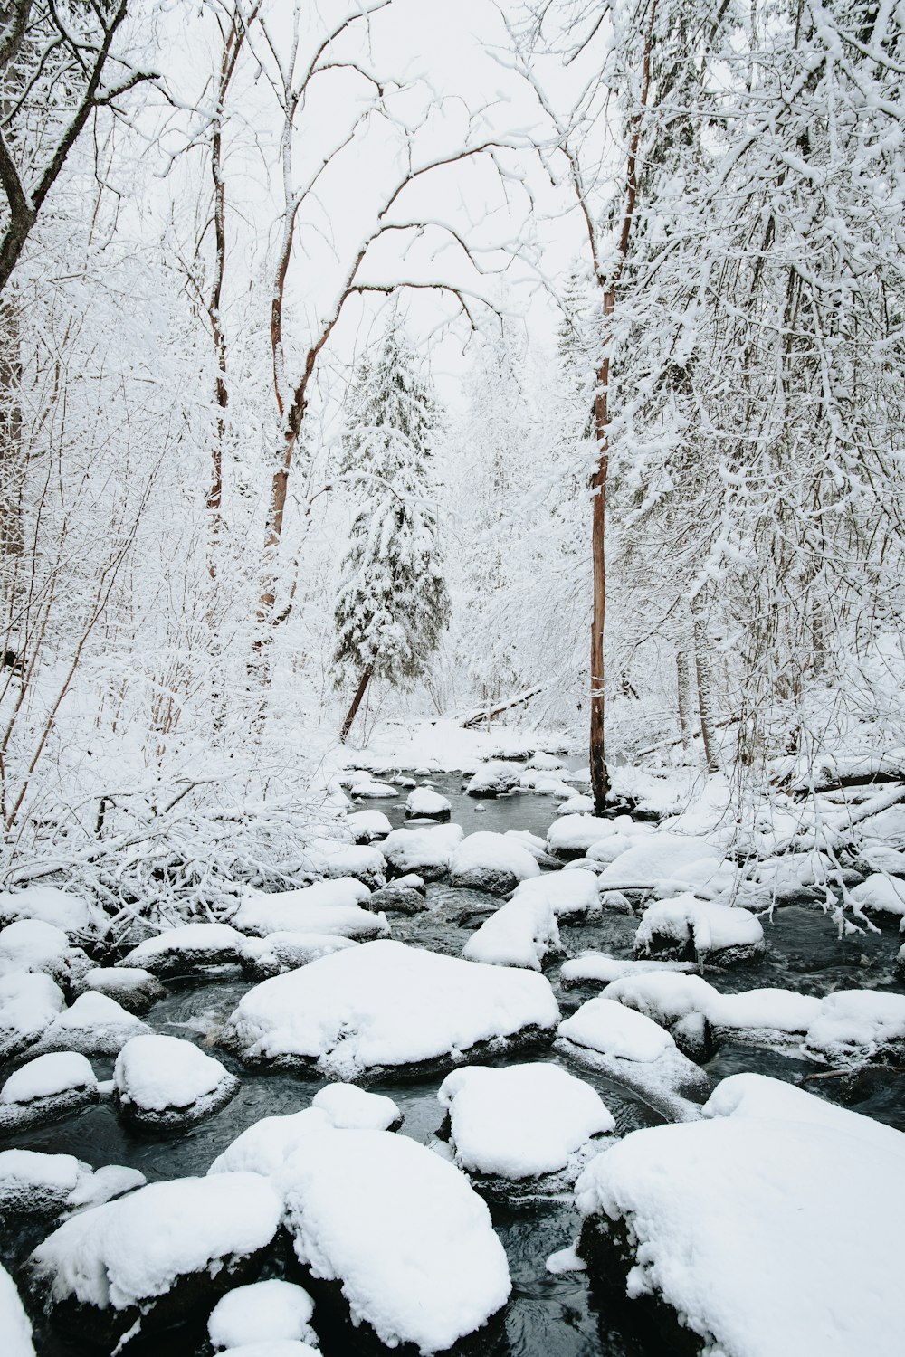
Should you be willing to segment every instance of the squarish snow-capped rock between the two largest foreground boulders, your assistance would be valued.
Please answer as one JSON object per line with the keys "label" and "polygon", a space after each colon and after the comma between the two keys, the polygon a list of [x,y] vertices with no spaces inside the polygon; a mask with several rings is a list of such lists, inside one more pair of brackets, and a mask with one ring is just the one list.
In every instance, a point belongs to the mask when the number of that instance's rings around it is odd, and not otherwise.
{"label": "squarish snow-capped rock between the two largest foreground boulders", "polygon": [[453,1162],[494,1198],[570,1187],[601,1148],[594,1137],[616,1126],[590,1084],[543,1063],[456,1069],[437,1098],[448,1109]]}

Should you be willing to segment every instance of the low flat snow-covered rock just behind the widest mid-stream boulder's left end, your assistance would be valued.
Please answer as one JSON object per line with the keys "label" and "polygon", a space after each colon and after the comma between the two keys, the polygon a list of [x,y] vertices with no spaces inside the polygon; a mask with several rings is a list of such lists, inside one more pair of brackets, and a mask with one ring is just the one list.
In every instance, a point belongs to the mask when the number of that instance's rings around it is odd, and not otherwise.
{"label": "low flat snow-covered rock just behind the widest mid-stream boulder's left end", "polygon": [[370,890],[354,877],[319,881],[301,890],[247,894],[233,915],[243,932],[266,938],[274,932],[332,934],[339,938],[380,938],[389,932],[387,920],[361,909]]}

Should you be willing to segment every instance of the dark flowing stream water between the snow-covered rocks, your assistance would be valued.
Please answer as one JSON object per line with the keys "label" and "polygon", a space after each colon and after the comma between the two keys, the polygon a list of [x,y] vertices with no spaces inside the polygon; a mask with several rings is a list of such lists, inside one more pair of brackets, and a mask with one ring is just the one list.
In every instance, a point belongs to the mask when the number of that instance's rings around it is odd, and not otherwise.
{"label": "dark flowing stream water between the snow-covered rocks", "polygon": [[[510,795],[487,801],[483,803],[486,809],[478,810],[475,802],[461,795],[459,778],[438,776],[436,787],[453,802],[453,820],[467,833],[478,829],[531,829],[543,835],[556,814],[555,798]],[[402,824],[404,792],[398,802],[369,802],[369,806],[385,810],[395,824]],[[488,904],[495,904],[478,892],[453,890],[441,885],[429,887],[429,898],[431,908],[427,912],[412,917],[393,916],[392,934],[400,940],[453,955],[461,951],[469,930],[480,921],[479,912],[486,911]],[[746,970],[708,970],[711,984],[725,991],[776,985],[815,995],[855,987],[902,991],[893,978],[893,958],[898,947],[893,921],[879,935],[860,934],[840,940],[834,925],[820,909],[795,905],[777,909],[773,920],[764,920],[764,925],[768,944],[765,962]],[[574,927],[563,924],[560,932],[570,954],[596,947],[630,957],[636,927],[636,917],[608,912],[594,923]],[[550,973],[550,980],[564,1014],[598,992],[596,985],[562,992],[555,970]],[[206,981],[170,981],[168,995],[145,1015],[145,1020],[160,1033],[204,1045],[216,1034],[250,984],[237,973],[220,973]],[[223,1111],[180,1136],[166,1140],[138,1136],[122,1126],[110,1106],[99,1105],[41,1130],[7,1137],[0,1141],[0,1148],[18,1145],[72,1153],[92,1167],[129,1164],[140,1168],[149,1181],[201,1175],[246,1126],[261,1117],[307,1107],[322,1087],[319,1082],[293,1075],[251,1072],[221,1050],[214,1053],[240,1076],[242,1088]],[[569,1063],[559,1056],[539,1058],[555,1060],[569,1068]],[[98,1077],[110,1076],[113,1061],[95,1060],[92,1064]],[[805,1080],[805,1087],[814,1092],[839,1098],[858,1111],[905,1130],[905,1080],[898,1071],[871,1068],[855,1080],[845,1082],[814,1079],[815,1067],[805,1060],[741,1044],[723,1045],[706,1068],[714,1082],[739,1071],[756,1071],[791,1082]],[[615,1082],[583,1067],[573,1072],[598,1088],[620,1130],[657,1125],[663,1120],[638,1094]],[[5,1073],[3,1072],[4,1077]],[[442,1109],[437,1102],[440,1082],[440,1077],[383,1082],[373,1087],[393,1098],[404,1113],[402,1134],[425,1143],[442,1121]],[[832,1190],[829,1183],[828,1190]],[[545,1270],[550,1254],[564,1248],[575,1238],[577,1217],[569,1200],[513,1209],[494,1208],[494,1225],[506,1247],[513,1278],[513,1299],[507,1310],[506,1341],[501,1357],[669,1357],[669,1349],[662,1341],[651,1345],[634,1331],[631,1305],[617,1311],[601,1310],[602,1303],[589,1291],[582,1273],[551,1276]],[[28,1251],[49,1228],[38,1225],[7,1231],[0,1240],[0,1250],[3,1261],[14,1273],[19,1272]],[[285,1259],[274,1257],[263,1276],[280,1276],[284,1267]],[[66,1342],[64,1335],[50,1333],[41,1316],[33,1318],[39,1354],[83,1357],[87,1352],[83,1346]],[[204,1318],[198,1316],[199,1324],[195,1329],[167,1333],[170,1357],[205,1353]],[[160,1343],[147,1350],[160,1352]],[[346,1341],[331,1346],[328,1337],[323,1350],[324,1357],[346,1357],[349,1352]]]}

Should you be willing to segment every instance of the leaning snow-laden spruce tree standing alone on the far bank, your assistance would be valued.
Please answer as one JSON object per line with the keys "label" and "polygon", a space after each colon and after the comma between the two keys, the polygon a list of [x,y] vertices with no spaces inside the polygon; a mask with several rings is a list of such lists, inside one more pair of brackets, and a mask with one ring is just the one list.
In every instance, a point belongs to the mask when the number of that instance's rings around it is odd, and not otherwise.
{"label": "leaning snow-laden spruce tree standing alone on the far bank", "polygon": [[343,474],[361,497],[335,608],[338,681],[358,688],[345,741],[370,678],[421,677],[449,616],[430,498],[440,411],[398,323],[360,364],[350,394]]}

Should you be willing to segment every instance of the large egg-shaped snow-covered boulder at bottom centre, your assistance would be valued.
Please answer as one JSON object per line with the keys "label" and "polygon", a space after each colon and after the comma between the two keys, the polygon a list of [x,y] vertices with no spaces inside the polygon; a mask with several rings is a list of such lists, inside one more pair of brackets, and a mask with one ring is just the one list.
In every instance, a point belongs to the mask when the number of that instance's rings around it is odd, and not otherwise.
{"label": "large egg-shaped snow-covered boulder at bottom centre", "polygon": [[506,1304],[509,1267],[487,1206],[459,1168],[414,1140],[311,1136],[281,1181],[300,1262],[315,1281],[339,1282],[353,1323],[387,1346],[445,1352]]}

